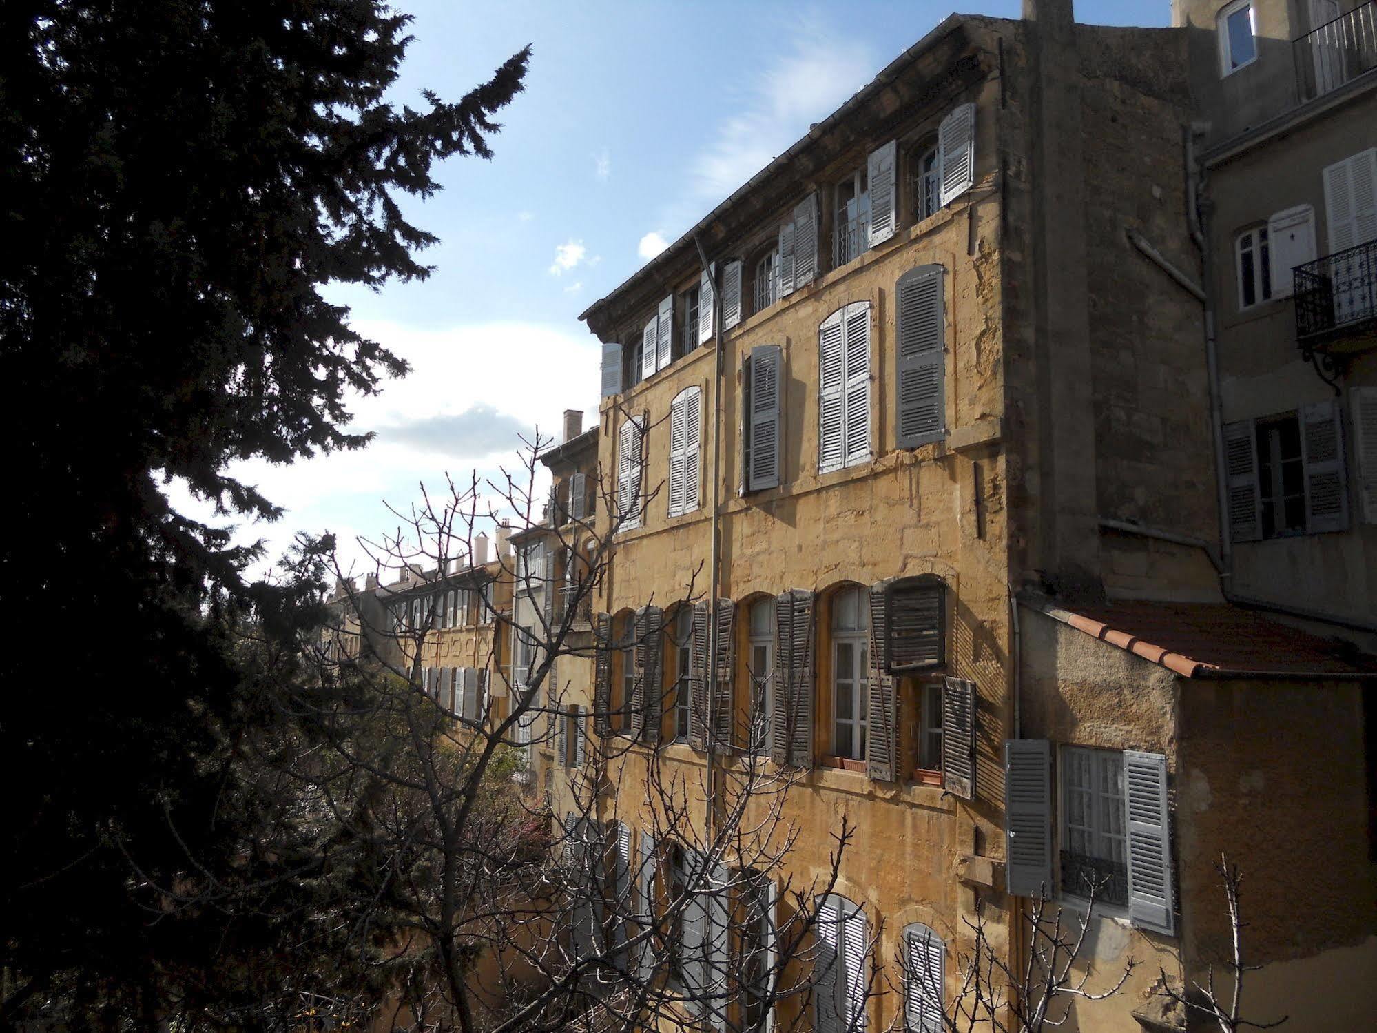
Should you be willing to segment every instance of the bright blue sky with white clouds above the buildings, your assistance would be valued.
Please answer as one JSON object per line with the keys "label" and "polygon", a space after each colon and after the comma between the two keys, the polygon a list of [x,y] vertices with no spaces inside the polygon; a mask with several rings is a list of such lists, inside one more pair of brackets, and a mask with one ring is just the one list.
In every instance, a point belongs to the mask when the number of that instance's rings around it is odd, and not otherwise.
{"label": "bright blue sky with white clouds above the buildings", "polygon": [[[414,37],[392,101],[457,101],[527,43],[526,90],[500,114],[493,158],[450,158],[442,190],[406,198],[441,242],[425,281],[330,285],[355,329],[402,355],[408,377],[353,406],[358,452],[233,472],[285,507],[240,523],[280,556],[297,532],[330,530],[346,569],[372,569],[358,539],[394,533],[421,499],[519,466],[521,435],[558,435],[565,409],[598,412],[598,342],[578,322],[719,201],[913,45],[954,0],[660,3],[399,0]],[[1018,18],[1019,0],[964,14]],[[1103,25],[1166,25],[1169,0],[1081,0]],[[178,485],[174,503],[205,515]],[[220,521],[222,523],[226,521]],[[262,569],[257,572],[262,573]]]}

